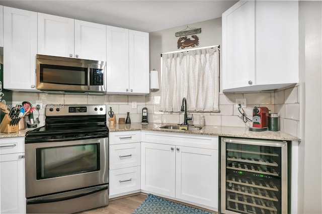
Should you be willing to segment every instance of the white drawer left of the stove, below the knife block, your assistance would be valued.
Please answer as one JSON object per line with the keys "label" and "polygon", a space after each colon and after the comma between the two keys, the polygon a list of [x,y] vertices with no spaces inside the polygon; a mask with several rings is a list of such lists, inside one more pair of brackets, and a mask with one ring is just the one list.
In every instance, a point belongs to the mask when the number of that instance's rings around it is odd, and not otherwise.
{"label": "white drawer left of the stove, below the knife block", "polygon": [[25,152],[25,138],[2,138],[0,155]]}

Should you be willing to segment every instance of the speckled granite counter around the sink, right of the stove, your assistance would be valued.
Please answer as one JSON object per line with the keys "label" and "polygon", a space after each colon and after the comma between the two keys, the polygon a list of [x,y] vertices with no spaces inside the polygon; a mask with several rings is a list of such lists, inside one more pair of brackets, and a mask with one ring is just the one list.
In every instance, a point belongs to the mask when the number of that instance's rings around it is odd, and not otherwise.
{"label": "speckled granite counter around the sink, right of the stove", "polygon": [[224,127],[224,126],[204,126],[199,131],[186,131],[186,130],[172,130],[162,129],[161,126],[167,124],[157,123],[132,123],[109,126],[110,132],[116,131],[134,131],[134,130],[149,130],[149,131],[160,131],[160,132],[177,132],[177,133],[191,133],[199,135],[217,135],[225,137],[240,137],[240,138],[257,138],[257,139],[268,139],[268,140],[285,140],[285,141],[301,141],[301,139],[283,132],[251,132],[248,128],[243,127]]}

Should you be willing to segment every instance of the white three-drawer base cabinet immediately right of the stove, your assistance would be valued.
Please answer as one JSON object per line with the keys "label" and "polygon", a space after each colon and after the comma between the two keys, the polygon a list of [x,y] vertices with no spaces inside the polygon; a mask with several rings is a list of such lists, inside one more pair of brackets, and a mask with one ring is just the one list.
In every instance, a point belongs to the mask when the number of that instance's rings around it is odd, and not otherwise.
{"label": "white three-drawer base cabinet immediately right of the stove", "polygon": [[109,197],[140,192],[141,131],[110,132]]}

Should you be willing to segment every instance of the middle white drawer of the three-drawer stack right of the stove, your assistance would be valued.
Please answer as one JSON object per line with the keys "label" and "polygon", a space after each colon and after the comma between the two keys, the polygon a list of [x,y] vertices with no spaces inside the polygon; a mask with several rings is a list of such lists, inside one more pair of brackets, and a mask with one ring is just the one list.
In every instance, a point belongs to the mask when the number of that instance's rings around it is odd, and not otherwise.
{"label": "middle white drawer of the three-drawer stack right of the stove", "polygon": [[141,143],[110,145],[110,169],[140,165]]}

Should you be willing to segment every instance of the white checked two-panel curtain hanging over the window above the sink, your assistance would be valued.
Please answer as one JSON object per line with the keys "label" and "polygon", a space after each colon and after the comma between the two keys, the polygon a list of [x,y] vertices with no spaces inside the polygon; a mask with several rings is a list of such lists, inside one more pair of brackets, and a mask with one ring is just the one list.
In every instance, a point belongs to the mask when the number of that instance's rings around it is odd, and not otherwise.
{"label": "white checked two-panel curtain hanging over the window above the sink", "polygon": [[186,97],[189,112],[219,112],[218,46],[163,54],[162,59],[160,111],[180,112]]}

